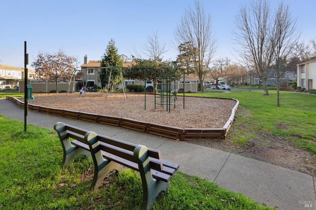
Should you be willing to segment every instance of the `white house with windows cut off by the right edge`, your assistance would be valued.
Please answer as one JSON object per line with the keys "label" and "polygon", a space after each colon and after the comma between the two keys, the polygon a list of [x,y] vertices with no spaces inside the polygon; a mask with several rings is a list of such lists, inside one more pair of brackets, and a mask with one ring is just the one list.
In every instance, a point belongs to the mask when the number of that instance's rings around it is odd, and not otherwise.
{"label": "white house with windows cut off by the right edge", "polygon": [[316,89],[316,59],[299,63],[296,67],[297,87]]}

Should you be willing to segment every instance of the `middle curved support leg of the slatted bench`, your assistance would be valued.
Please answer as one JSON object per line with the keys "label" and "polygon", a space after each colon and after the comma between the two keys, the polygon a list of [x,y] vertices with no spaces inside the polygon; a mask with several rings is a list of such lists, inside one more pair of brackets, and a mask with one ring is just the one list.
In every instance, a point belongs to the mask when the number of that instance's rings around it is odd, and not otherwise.
{"label": "middle curved support leg of the slatted bench", "polygon": [[90,190],[95,190],[99,186],[101,186],[102,181],[111,171],[120,171],[123,169],[122,165],[103,158],[102,151],[99,148],[100,144],[96,136],[97,134],[94,132],[87,132],[84,136],[84,140],[86,140],[87,144],[89,145],[91,156],[94,163],[94,175],[93,181],[90,186]]}

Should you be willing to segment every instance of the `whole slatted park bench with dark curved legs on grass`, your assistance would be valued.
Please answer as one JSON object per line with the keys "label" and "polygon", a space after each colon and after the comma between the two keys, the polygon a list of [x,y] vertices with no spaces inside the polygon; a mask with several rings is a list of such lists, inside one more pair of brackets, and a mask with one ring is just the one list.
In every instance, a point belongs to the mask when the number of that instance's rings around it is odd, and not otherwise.
{"label": "whole slatted park bench with dark curved legs on grass", "polygon": [[101,186],[102,181],[113,170],[122,166],[138,171],[143,185],[142,209],[149,210],[161,191],[169,187],[171,176],[179,165],[160,159],[159,150],[144,145],[117,140],[78,127],[57,122],[54,125],[64,150],[62,167],[76,157],[92,157],[94,175],[90,189]]}

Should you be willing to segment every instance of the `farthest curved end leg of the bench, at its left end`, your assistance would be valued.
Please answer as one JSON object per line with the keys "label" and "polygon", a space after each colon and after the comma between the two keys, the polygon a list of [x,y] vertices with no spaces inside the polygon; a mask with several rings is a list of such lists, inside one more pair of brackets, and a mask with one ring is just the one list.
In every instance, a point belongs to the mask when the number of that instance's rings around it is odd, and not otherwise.
{"label": "farthest curved end leg of the bench, at its left end", "polygon": [[61,145],[63,147],[64,155],[61,167],[66,168],[68,164],[73,161],[76,157],[84,155],[86,157],[91,157],[90,151],[82,149],[80,147],[71,144],[68,138],[66,126],[62,122],[57,122],[54,125],[54,129],[57,131]]}

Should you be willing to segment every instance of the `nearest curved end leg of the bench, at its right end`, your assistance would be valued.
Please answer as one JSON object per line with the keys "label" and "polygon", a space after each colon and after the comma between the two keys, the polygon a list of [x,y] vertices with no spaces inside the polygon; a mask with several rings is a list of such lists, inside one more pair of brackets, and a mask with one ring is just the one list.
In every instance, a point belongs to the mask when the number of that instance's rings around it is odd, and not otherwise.
{"label": "nearest curved end leg of the bench, at its right end", "polygon": [[138,161],[139,173],[143,184],[143,210],[151,210],[161,191],[166,192],[169,183],[153,178],[149,166],[147,147],[137,145],[134,149],[134,157]]}

